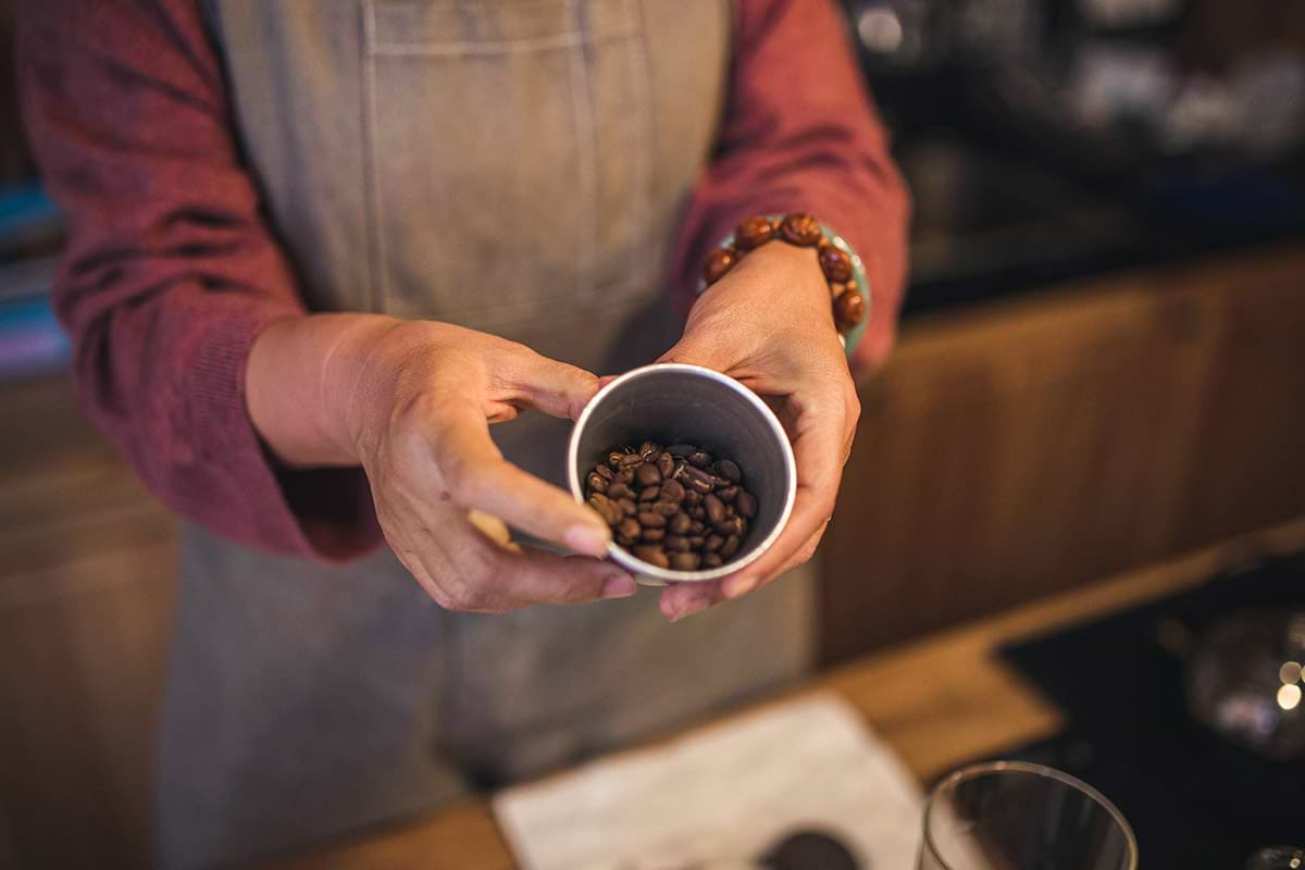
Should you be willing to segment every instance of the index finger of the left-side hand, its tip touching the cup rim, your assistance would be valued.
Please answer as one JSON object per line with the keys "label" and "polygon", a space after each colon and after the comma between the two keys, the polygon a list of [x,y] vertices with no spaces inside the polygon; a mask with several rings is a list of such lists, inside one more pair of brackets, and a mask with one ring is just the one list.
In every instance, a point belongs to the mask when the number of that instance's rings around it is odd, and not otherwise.
{"label": "index finger of the left-side hand, its tip touching the cup rim", "polygon": [[438,411],[435,460],[459,507],[476,509],[577,553],[602,557],[612,532],[589,506],[502,458],[480,408],[470,403]]}

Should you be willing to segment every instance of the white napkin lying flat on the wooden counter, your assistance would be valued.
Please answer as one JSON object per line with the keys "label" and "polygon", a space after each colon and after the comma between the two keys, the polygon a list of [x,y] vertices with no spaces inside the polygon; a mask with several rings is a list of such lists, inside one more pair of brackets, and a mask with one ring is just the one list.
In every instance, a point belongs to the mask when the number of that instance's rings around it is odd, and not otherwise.
{"label": "white napkin lying flat on the wooden counter", "polygon": [[493,802],[529,870],[746,867],[800,830],[835,835],[861,867],[904,870],[920,840],[920,806],[893,750],[825,693]]}

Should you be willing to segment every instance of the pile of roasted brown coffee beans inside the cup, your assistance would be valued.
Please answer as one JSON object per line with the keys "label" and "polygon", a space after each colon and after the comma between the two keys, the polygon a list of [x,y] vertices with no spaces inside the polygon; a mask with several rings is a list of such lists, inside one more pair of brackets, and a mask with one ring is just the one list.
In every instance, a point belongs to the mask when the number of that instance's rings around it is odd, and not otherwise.
{"label": "pile of roasted brown coffee beans inside the cup", "polygon": [[677,571],[728,562],[757,515],[739,466],[692,443],[613,450],[585,477],[585,492],[617,544]]}

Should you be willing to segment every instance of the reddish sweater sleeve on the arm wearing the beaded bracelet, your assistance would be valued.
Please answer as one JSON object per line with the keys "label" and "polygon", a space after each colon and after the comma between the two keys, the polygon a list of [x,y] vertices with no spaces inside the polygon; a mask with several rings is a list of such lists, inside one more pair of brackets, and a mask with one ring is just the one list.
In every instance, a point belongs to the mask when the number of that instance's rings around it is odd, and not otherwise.
{"label": "reddish sweater sleeve on the arm wearing the beaded bracelet", "polygon": [[867,363],[893,347],[910,198],[833,0],[740,0],[724,116],[669,277],[688,307],[710,248],[754,214],[809,211],[865,262]]}

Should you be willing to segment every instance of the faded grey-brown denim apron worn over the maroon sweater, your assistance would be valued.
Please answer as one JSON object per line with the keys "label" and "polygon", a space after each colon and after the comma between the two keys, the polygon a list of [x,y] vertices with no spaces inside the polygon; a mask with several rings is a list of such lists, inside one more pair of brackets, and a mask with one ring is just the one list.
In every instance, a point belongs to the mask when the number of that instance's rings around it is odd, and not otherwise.
{"label": "faded grey-brown denim apron worn over the maroon sweater", "polygon": [[[710,159],[727,0],[206,0],[236,133],[315,310],[432,318],[613,373],[669,347],[662,266]],[[561,483],[569,424],[495,427]],[[788,578],[669,625],[655,591],[436,607],[184,531],[161,720],[166,866],[264,854],[663,733],[801,676]]]}

